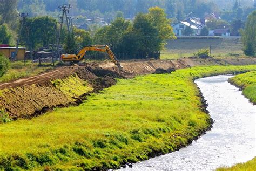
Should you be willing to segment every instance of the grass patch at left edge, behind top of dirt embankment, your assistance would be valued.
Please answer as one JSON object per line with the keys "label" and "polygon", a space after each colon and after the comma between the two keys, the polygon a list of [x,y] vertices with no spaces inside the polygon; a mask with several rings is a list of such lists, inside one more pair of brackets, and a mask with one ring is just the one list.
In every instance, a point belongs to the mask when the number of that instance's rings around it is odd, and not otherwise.
{"label": "grass patch at left edge, behind top of dirt embankment", "polygon": [[24,65],[23,61],[15,61],[10,63],[10,69],[8,72],[0,77],[0,83],[29,76],[36,76],[37,74],[50,69],[53,69],[53,66],[50,64],[43,64],[39,66],[38,63],[26,61],[26,65]]}

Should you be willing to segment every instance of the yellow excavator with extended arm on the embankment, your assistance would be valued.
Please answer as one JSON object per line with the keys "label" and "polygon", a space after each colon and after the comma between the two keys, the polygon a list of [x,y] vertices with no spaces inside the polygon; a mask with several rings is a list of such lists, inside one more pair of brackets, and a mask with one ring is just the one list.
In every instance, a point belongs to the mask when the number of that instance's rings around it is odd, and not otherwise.
{"label": "yellow excavator with extended arm on the embankment", "polygon": [[118,67],[118,69],[123,70],[122,65],[119,63],[116,56],[114,56],[114,53],[110,50],[109,46],[107,46],[107,45],[86,46],[86,47],[83,47],[83,49],[80,50],[77,55],[76,54],[62,54],[61,60],[62,61],[70,61],[71,63],[79,63],[80,61],[82,61],[84,59],[85,53],[87,51],[106,52],[107,54],[109,54],[110,59]]}

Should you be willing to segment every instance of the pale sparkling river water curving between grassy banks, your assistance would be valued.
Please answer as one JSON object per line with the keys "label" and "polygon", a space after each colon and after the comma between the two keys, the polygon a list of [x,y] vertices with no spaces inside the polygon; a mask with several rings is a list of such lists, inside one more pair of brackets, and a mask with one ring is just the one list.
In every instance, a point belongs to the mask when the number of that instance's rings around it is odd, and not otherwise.
{"label": "pale sparkling river water curving between grassy banks", "polygon": [[227,79],[215,76],[195,81],[207,100],[213,128],[192,145],[124,170],[214,170],[256,156],[256,106]]}

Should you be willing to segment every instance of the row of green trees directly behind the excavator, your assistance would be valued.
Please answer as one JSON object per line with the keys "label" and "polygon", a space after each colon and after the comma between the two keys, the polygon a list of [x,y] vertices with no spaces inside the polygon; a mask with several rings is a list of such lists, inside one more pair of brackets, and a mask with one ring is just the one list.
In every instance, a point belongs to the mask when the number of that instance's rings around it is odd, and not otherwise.
{"label": "row of green trees directly behind the excavator", "polygon": [[65,41],[65,50],[75,53],[77,47],[98,44],[110,46],[119,59],[151,58],[163,49],[166,40],[175,38],[164,10],[154,7],[147,13],[138,13],[132,23],[118,17],[93,35],[75,29]]}

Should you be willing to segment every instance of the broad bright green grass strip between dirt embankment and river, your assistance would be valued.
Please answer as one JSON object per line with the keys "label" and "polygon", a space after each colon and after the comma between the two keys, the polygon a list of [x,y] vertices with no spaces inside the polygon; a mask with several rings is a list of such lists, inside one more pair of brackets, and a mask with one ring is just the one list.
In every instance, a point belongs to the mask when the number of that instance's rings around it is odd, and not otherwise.
{"label": "broad bright green grass strip between dirt embankment and river", "polygon": [[115,168],[173,151],[210,125],[193,79],[255,69],[194,67],[119,79],[80,106],[2,124],[0,170]]}

